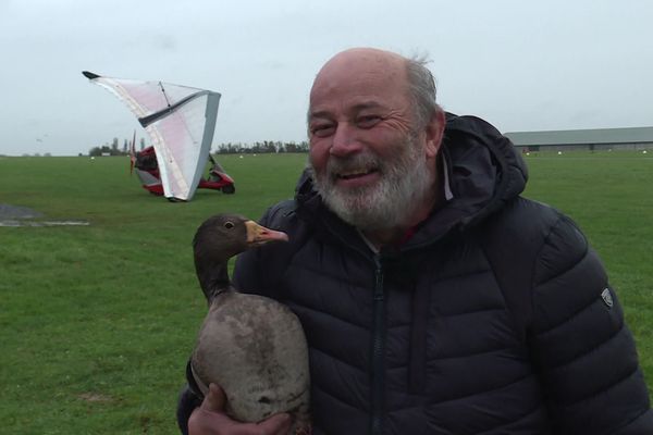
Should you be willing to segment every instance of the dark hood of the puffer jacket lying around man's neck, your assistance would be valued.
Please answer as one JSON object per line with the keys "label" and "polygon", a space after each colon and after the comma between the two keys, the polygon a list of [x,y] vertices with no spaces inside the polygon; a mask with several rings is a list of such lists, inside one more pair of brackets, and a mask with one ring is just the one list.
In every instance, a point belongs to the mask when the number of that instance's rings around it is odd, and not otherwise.
{"label": "dark hood of the puffer jacket lying around man's neck", "polygon": [[[430,244],[454,227],[478,224],[526,187],[527,166],[513,142],[479,117],[446,114],[441,158],[446,163],[453,198],[419,225],[406,248]],[[340,220],[322,204],[309,171],[301,174],[295,199],[299,209],[322,215],[331,227],[337,225],[333,221]],[[341,228],[348,234],[347,238],[355,234],[350,227]]]}

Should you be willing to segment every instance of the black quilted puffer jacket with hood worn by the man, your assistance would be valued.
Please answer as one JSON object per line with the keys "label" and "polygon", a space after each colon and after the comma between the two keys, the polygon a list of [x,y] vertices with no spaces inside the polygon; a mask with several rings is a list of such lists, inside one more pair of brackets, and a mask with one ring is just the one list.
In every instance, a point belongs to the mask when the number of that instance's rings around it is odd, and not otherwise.
{"label": "black quilted puffer jacket with hood worn by the man", "polygon": [[242,254],[239,288],[292,307],[310,347],[313,433],[653,434],[632,337],[596,254],[519,197],[492,126],[449,116],[454,199],[374,254],[305,179],[261,223],[294,243]]}

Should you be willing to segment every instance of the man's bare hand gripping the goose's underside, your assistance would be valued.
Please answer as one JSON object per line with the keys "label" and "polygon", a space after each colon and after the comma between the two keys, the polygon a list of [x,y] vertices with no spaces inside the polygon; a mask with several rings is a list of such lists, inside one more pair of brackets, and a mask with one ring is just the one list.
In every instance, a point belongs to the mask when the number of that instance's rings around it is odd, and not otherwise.
{"label": "man's bare hand gripping the goose's underside", "polygon": [[260,423],[241,423],[224,412],[226,396],[215,384],[209,385],[201,406],[190,414],[188,435],[287,435],[291,415],[280,413]]}

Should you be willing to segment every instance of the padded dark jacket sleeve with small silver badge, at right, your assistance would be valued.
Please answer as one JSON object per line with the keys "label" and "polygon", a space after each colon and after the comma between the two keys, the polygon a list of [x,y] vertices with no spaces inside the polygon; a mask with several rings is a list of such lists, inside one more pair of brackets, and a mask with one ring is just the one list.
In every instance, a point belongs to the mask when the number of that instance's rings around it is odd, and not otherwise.
{"label": "padded dark jacket sleeve with small silver badge, at right", "polygon": [[597,256],[564,216],[538,256],[531,334],[556,434],[653,434],[621,307]]}

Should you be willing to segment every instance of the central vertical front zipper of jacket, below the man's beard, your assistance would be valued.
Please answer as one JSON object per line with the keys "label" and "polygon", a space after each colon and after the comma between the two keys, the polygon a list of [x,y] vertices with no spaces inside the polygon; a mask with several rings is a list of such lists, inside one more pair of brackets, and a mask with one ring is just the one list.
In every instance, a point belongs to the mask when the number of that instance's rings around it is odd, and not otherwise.
{"label": "central vertical front zipper of jacket, below the man's beard", "polygon": [[372,325],[372,413],[371,434],[383,433],[383,408],[385,402],[385,290],[383,268],[379,254],[374,257],[374,293]]}

